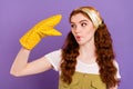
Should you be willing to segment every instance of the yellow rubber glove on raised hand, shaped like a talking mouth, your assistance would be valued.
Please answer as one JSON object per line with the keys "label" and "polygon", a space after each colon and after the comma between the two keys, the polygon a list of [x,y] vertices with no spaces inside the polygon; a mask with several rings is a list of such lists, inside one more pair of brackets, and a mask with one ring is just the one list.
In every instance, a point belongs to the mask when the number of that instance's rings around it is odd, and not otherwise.
{"label": "yellow rubber glove on raised hand, shaped like a talking mouth", "polygon": [[33,49],[45,36],[61,36],[62,33],[54,29],[61,21],[62,16],[57,14],[44,19],[31,28],[24,36],[20,38],[20,43],[25,49]]}

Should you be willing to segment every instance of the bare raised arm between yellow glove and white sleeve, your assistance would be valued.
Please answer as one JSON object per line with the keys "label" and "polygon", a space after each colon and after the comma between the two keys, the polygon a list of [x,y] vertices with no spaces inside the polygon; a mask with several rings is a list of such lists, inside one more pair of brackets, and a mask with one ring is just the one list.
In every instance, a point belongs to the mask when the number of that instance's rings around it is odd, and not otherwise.
{"label": "bare raised arm between yellow glove and white sleeve", "polygon": [[52,68],[52,65],[44,58],[28,62],[30,50],[21,48],[13,61],[10,73],[16,77],[40,73]]}

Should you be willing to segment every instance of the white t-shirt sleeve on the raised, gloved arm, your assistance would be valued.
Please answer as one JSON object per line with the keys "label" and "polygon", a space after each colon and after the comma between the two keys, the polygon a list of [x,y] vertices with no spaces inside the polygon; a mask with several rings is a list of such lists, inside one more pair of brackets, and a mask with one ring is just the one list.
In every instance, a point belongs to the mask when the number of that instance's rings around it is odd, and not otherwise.
{"label": "white t-shirt sleeve on the raised, gloved arm", "polygon": [[48,61],[53,66],[55,71],[59,71],[60,61],[61,61],[61,49],[52,51],[44,56]]}

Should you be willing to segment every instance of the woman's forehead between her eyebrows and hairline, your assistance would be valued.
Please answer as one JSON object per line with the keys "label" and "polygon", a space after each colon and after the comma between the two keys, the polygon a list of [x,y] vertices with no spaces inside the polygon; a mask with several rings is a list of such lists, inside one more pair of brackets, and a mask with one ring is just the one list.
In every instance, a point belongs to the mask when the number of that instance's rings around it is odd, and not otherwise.
{"label": "woman's forehead between her eyebrows and hairline", "polygon": [[90,19],[82,13],[78,13],[78,14],[74,14],[74,16],[71,17],[71,22],[79,22],[79,21],[82,21],[82,20],[90,21]]}

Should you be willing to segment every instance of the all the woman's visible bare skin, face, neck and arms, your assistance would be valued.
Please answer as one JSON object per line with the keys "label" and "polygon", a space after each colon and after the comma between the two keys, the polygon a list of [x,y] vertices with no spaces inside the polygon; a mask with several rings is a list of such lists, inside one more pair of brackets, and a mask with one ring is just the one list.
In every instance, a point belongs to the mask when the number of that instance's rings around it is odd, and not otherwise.
{"label": "all the woman's visible bare skin, face, neck and arms", "polygon": [[[78,57],[78,60],[81,60],[88,65],[94,63],[96,59],[94,47],[95,29],[91,20],[81,13],[73,16],[71,18],[71,31],[80,44],[80,56]],[[32,62],[28,62],[30,52],[31,50],[27,50],[24,48],[20,49],[11,67],[11,75],[16,77],[35,75],[52,68],[52,65],[47,60],[45,57],[41,57]],[[110,89],[117,89],[117,87]]]}

